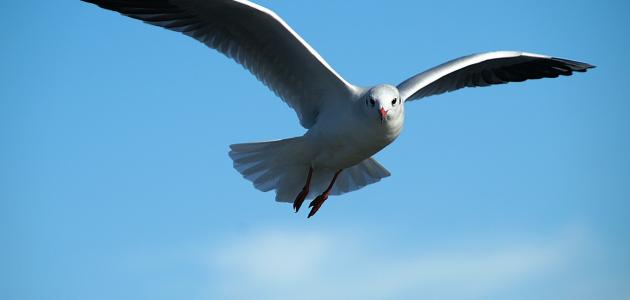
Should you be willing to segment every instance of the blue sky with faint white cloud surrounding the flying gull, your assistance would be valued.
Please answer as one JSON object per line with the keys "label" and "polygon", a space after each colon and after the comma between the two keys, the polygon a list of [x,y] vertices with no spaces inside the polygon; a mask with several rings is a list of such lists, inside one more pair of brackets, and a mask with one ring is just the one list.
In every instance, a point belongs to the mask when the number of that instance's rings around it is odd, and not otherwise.
{"label": "blue sky with faint white cloud surrounding the flying gull", "polygon": [[264,1],[348,81],[572,77],[407,103],[392,176],[294,214],[228,145],[304,132],[242,67],[79,1],[0,4],[2,299],[630,299],[627,1]]}

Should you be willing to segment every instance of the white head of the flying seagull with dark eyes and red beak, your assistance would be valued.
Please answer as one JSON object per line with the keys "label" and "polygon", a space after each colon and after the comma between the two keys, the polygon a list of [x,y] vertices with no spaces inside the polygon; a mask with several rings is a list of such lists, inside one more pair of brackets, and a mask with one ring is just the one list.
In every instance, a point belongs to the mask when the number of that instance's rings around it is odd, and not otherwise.
{"label": "white head of the flying seagull with dark eyes and red beak", "polygon": [[363,105],[368,117],[381,124],[397,120],[403,113],[403,103],[398,89],[388,84],[372,87],[365,94]]}

